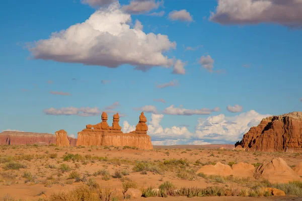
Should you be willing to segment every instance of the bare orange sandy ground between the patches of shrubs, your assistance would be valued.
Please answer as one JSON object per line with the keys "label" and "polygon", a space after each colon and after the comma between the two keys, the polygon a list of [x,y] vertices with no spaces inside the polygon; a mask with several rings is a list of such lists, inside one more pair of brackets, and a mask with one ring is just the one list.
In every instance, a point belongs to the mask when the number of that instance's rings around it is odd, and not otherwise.
{"label": "bare orange sandy ground between the patches of shrubs", "polygon": [[[221,145],[216,146],[221,147]],[[213,147],[210,147],[213,148]],[[66,154],[80,154],[86,159],[75,161],[63,161],[63,156]],[[55,158],[50,158],[51,154],[57,154]],[[14,161],[17,161],[26,168],[19,170],[5,170],[4,158],[11,156]],[[29,157],[30,156],[30,157]],[[100,161],[94,157],[106,157],[107,161]],[[175,147],[155,147],[154,150],[136,150],[123,149],[122,147],[55,147],[55,146],[0,146],[0,198],[11,195],[15,198],[23,198],[27,200],[38,200],[44,198],[54,192],[66,191],[73,189],[76,186],[83,184],[83,182],[73,182],[68,179],[69,173],[73,170],[81,173],[81,176],[87,175],[87,178],[94,178],[95,181],[102,187],[111,189],[121,189],[123,180],[120,178],[111,178],[104,180],[101,175],[94,176],[93,173],[99,169],[107,169],[111,175],[115,171],[128,170],[128,177],[137,183],[137,188],[146,188],[155,186],[156,188],[164,181],[171,181],[176,187],[190,187],[196,186],[204,188],[207,186],[223,186],[228,185],[233,188],[242,188],[237,183],[215,183],[208,180],[194,176],[192,178],[179,178],[177,172],[166,170],[162,174],[147,171],[146,174],[140,172],[133,172],[133,166],[137,161],[160,162],[168,159],[186,159],[190,164],[186,167],[188,171],[195,172],[202,165],[212,162],[222,162],[228,164],[229,162],[247,162],[262,163],[269,161],[274,157],[282,157],[289,166],[296,165],[302,160],[302,155],[294,153],[260,153],[260,152],[237,152],[229,149],[209,149],[209,147],[202,146],[186,146],[186,148]],[[196,161],[199,161],[196,164]],[[62,172],[60,165],[66,164],[71,170]],[[52,165],[52,168],[49,168]],[[30,172],[31,181],[26,182],[23,177],[24,172]],[[11,175],[1,176],[3,174]],[[253,180],[253,178],[251,178]],[[51,183],[51,185],[47,185]],[[43,192],[43,193],[42,193]],[[39,195],[41,194],[41,195]],[[168,197],[168,198],[147,198],[148,200],[272,200],[277,197],[202,197],[202,198],[186,198],[186,197]],[[291,198],[289,198],[291,199]],[[138,200],[146,200],[140,198]],[[281,200],[281,199],[280,199]],[[283,199],[282,199],[283,200]],[[293,200],[299,200],[293,198]]]}

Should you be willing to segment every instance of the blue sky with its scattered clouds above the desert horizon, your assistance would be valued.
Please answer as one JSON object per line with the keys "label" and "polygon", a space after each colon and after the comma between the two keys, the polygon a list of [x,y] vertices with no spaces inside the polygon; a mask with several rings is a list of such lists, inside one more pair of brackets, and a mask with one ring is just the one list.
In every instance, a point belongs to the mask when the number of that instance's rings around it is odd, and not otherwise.
{"label": "blue sky with its scattered clouds above the desert horizon", "polygon": [[[86,124],[99,123],[109,107],[124,116],[124,132],[133,130],[144,110],[154,144],[233,143],[263,117],[301,111],[299,0],[269,0],[265,11],[253,0],[85,1],[2,4],[0,131],[64,129],[76,136]],[[94,26],[77,25],[92,15]],[[125,18],[131,22],[119,30]],[[50,38],[73,25],[78,29],[69,38]],[[94,36],[100,33],[95,30],[102,34]],[[86,48],[90,43],[93,48]],[[178,60],[182,71],[175,74]],[[165,83],[172,86],[160,88]],[[165,103],[154,100],[160,98]]]}

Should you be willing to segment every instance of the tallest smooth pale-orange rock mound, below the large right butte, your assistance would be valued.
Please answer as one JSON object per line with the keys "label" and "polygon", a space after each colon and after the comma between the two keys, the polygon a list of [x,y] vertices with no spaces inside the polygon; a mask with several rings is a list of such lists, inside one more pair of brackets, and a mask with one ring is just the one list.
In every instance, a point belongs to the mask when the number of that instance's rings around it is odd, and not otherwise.
{"label": "tallest smooth pale-orange rock mound, below the large right butte", "polygon": [[273,183],[301,180],[300,176],[282,158],[273,158],[270,162],[261,164],[256,169],[254,176]]}

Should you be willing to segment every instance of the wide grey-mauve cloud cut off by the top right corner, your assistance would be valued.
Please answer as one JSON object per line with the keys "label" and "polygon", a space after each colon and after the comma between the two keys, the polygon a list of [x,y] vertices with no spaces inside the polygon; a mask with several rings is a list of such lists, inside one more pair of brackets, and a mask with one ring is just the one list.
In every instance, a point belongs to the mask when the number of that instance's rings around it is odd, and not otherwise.
{"label": "wide grey-mauve cloud cut off by the top right corner", "polygon": [[218,0],[209,20],[223,24],[302,26],[301,0]]}

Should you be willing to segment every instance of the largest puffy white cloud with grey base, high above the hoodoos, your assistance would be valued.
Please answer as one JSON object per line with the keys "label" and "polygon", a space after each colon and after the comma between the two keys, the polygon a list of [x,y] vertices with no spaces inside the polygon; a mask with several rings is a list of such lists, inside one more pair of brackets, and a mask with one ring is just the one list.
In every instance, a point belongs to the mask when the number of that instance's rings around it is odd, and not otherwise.
{"label": "largest puffy white cloud with grey base, high above the hoodoos", "polygon": [[176,48],[167,35],[130,27],[131,16],[118,2],[96,11],[84,23],[55,32],[29,45],[35,59],[83,63],[116,68],[122,64],[145,71],[153,66],[171,67],[173,59],[163,53]]}

